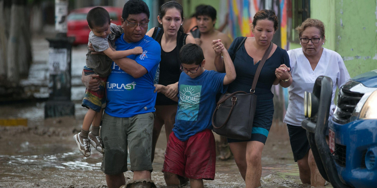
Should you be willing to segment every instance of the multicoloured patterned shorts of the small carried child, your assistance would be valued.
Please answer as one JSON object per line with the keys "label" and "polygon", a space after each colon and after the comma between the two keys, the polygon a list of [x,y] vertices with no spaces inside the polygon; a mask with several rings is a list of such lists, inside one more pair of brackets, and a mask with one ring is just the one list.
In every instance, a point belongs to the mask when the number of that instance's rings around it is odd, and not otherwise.
{"label": "multicoloured patterned shorts of the small carried child", "polygon": [[[84,66],[84,74],[96,74],[92,68]],[[84,99],[81,103],[81,106],[84,106],[93,111],[100,112],[101,108],[106,107],[106,98],[105,98],[105,89],[106,89],[106,80],[107,78],[98,77],[100,80],[100,89],[97,91],[90,91],[85,89]]]}

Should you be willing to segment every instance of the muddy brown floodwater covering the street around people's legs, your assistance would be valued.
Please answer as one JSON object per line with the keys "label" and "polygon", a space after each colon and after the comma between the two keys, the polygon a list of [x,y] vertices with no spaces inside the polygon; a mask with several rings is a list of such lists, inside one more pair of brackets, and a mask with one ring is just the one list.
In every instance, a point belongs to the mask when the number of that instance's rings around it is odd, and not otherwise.
{"label": "muddy brown floodwater covering the street around people's legs", "polygon": [[[80,104],[75,106],[75,117],[44,119],[44,102],[0,105],[0,111],[0,118],[28,119],[27,127],[0,127],[0,188],[107,188],[100,170],[102,155],[92,150],[89,158],[83,157],[73,140],[86,113]],[[286,129],[282,123],[271,128],[262,155],[262,187],[310,187],[300,181]],[[162,129],[153,162],[152,179],[158,188],[166,187],[161,172],[164,134]],[[127,181],[132,179],[132,172],[124,174]],[[245,182],[230,159],[217,160],[215,180],[204,180],[204,185],[243,188]]]}

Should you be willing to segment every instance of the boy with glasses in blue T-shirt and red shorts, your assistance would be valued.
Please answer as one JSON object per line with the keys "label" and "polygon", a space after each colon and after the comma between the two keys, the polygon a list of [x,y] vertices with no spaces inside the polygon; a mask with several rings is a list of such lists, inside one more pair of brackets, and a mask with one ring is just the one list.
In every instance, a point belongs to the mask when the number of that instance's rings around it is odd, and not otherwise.
{"label": "boy with glasses in blue T-shirt and red shorts", "polygon": [[[211,117],[216,107],[216,94],[225,93],[227,84],[236,78],[228,51],[221,44],[225,73],[204,69],[205,59],[197,44],[185,44],[180,52],[181,76],[178,82],[178,101],[173,132],[167,143],[164,166],[166,184],[182,185],[190,180],[191,188],[202,188],[203,179],[215,178],[215,137]],[[220,47],[219,47],[220,49]],[[165,94],[166,86],[155,85],[156,92]]]}

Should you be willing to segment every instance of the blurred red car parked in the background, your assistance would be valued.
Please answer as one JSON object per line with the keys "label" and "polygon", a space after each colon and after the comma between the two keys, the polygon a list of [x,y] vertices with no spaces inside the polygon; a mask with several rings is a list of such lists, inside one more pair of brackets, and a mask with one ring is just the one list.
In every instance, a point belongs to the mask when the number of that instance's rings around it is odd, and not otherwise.
{"label": "blurred red car parked in the background", "polygon": [[[74,45],[88,44],[89,26],[86,21],[86,15],[93,7],[85,7],[72,10],[67,16],[67,36],[74,36]],[[122,17],[123,8],[113,6],[102,6],[109,12],[111,23],[120,25],[120,18]]]}

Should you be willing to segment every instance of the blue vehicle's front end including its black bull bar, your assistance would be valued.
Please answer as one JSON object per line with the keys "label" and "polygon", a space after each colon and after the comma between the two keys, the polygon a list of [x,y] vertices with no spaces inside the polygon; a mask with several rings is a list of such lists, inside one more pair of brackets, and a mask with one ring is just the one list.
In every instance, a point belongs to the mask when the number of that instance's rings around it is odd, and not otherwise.
{"label": "blue vehicle's front end including its black bull bar", "polygon": [[[346,82],[339,89],[334,115],[328,118],[330,81],[319,77],[313,94],[305,94],[308,119],[302,121],[302,126],[307,130],[318,169],[334,188],[376,188],[377,70]],[[323,136],[327,126],[328,145]]]}

